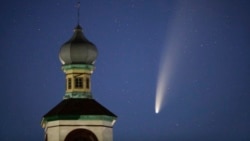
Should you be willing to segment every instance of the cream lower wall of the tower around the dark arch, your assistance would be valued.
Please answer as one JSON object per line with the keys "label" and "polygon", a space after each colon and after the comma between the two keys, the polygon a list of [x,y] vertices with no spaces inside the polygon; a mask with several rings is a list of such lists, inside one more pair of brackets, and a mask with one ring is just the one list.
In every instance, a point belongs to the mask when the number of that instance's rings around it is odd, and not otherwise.
{"label": "cream lower wall of the tower around the dark arch", "polygon": [[113,141],[113,123],[103,120],[58,120],[45,125],[47,141],[65,141],[67,135],[76,129],[91,131],[98,141]]}

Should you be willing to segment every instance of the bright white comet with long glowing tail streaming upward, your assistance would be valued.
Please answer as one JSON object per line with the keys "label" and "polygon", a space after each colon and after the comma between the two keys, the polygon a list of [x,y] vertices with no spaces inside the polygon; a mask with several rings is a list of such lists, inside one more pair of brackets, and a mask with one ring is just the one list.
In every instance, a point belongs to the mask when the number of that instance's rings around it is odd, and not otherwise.
{"label": "bright white comet with long glowing tail streaming upward", "polygon": [[178,1],[176,10],[170,15],[171,21],[167,26],[166,39],[163,44],[163,50],[159,61],[159,72],[156,84],[155,94],[155,113],[158,114],[164,105],[170,100],[170,87],[175,77],[175,69],[182,58],[190,34],[189,25],[185,24],[186,20],[191,19],[186,14],[190,3]]}

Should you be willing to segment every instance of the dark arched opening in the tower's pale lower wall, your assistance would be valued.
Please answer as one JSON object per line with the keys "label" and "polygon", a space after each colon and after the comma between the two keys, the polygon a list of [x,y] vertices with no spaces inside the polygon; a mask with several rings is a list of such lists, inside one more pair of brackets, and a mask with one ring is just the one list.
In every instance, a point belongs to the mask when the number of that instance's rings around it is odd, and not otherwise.
{"label": "dark arched opening in the tower's pale lower wall", "polygon": [[94,133],[86,129],[75,129],[65,138],[65,141],[98,141]]}

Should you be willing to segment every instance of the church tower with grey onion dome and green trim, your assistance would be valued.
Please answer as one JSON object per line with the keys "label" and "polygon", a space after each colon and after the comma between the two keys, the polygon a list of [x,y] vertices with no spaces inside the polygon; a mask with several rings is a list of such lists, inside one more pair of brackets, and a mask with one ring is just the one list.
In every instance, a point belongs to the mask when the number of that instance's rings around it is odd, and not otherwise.
{"label": "church tower with grey onion dome and green trim", "polygon": [[[79,18],[79,8],[78,8]],[[43,116],[46,141],[112,141],[116,115],[93,99],[91,75],[97,48],[79,25],[59,52],[65,73],[63,100]]]}

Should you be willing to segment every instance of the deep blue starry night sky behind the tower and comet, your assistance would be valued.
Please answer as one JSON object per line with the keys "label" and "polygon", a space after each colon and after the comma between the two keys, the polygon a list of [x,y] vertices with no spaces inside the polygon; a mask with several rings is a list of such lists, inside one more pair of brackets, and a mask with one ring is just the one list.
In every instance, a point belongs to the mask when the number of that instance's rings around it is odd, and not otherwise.
{"label": "deep blue starry night sky behind the tower and comet", "polygon": [[[44,140],[42,116],[65,93],[58,53],[77,24],[75,5],[1,2],[1,141]],[[92,92],[118,115],[114,141],[249,141],[249,6],[249,0],[81,0],[80,24],[99,51]],[[155,114],[166,54],[174,56],[172,72]]]}

